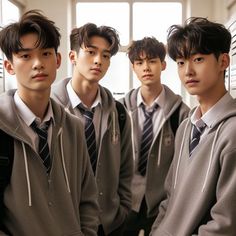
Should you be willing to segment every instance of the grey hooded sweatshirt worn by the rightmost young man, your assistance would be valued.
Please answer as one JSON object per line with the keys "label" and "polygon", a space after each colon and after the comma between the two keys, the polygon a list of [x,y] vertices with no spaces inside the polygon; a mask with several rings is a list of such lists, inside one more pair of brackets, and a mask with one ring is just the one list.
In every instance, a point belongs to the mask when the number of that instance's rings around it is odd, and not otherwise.
{"label": "grey hooded sweatshirt worn by the rightmost young man", "polygon": [[168,198],[150,235],[236,235],[236,102],[221,109],[191,157],[190,117],[179,127],[165,183]]}

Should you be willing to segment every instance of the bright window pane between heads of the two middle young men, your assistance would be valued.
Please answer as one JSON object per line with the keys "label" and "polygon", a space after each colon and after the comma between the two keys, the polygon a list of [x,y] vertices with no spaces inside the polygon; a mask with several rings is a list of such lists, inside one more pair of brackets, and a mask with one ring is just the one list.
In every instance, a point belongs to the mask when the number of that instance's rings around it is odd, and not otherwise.
{"label": "bright window pane between heads of the two middle young men", "polygon": [[100,84],[119,99],[129,91],[129,60],[125,53],[111,57],[111,65]]}

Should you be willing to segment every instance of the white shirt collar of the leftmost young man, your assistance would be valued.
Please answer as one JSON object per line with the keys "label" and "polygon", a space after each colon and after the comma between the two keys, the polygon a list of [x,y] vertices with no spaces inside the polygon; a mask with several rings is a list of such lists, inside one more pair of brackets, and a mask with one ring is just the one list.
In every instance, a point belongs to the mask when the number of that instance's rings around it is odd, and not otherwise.
{"label": "white shirt collar of the leftmost young man", "polygon": [[45,121],[48,121],[52,119],[52,122],[54,123],[54,117],[53,117],[53,111],[52,111],[52,104],[49,100],[49,106],[46,113],[46,116],[43,120],[41,120],[39,117],[37,117],[28,107],[27,105],[22,101],[20,98],[18,91],[14,94],[14,102],[16,104],[16,108],[19,112],[19,116],[21,119],[27,124],[27,126],[30,126],[31,123],[36,120],[37,123],[43,123]]}

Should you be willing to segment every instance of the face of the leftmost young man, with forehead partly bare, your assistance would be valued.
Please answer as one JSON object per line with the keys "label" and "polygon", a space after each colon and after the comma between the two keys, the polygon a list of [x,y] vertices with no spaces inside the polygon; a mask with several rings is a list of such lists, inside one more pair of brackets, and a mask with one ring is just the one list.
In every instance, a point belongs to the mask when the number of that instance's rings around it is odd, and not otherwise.
{"label": "face of the leftmost young man, with forehead partly bare", "polygon": [[26,96],[30,91],[50,92],[61,62],[60,55],[53,48],[35,48],[37,39],[34,33],[22,36],[23,49],[13,54],[12,62],[4,62],[8,73],[16,75],[19,93]]}

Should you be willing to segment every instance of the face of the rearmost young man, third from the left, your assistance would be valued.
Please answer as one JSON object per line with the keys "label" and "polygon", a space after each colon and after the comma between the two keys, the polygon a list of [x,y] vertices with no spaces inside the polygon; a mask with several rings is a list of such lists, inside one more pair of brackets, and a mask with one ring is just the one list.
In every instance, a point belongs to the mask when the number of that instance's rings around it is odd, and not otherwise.
{"label": "face of the rearmost young man, third from the left", "polygon": [[160,58],[147,58],[146,54],[140,55],[139,60],[135,60],[133,70],[142,83],[142,85],[160,85],[161,72],[165,70],[165,61],[161,62]]}

